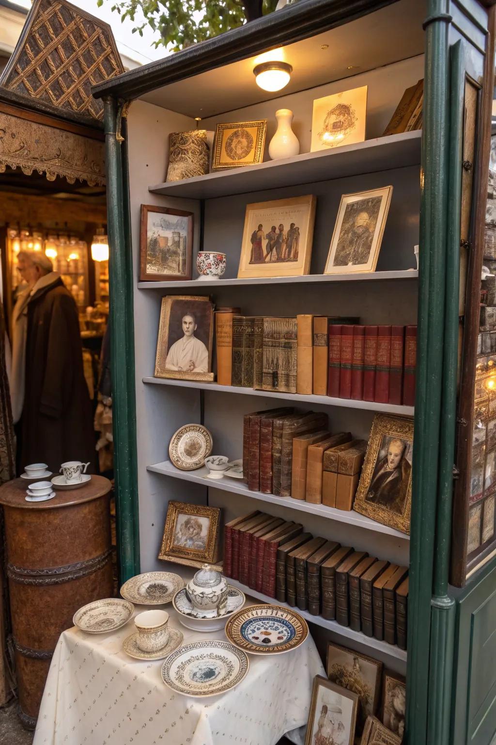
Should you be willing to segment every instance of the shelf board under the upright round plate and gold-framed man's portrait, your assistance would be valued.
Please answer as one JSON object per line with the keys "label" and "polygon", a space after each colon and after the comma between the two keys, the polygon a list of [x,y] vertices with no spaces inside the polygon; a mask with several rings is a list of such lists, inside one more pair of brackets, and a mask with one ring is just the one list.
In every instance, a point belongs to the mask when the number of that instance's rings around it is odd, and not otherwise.
{"label": "shelf board under the upright round plate and gold-framed man's portrait", "polygon": [[208,478],[207,474],[209,471],[206,467],[196,469],[196,471],[181,471],[175,468],[170,460],[164,460],[163,463],[146,466],[146,470],[172,476],[173,478],[180,478],[183,481],[193,481],[194,484],[202,484],[202,486],[211,486],[213,489],[222,489],[225,492],[241,494],[251,499],[258,499],[260,501],[270,502],[271,504],[280,504],[289,510],[299,510],[300,512],[311,513],[322,518],[335,520],[336,522],[346,522],[347,524],[364,528],[364,530],[373,530],[375,533],[386,533],[388,536],[393,536],[402,541],[410,540],[410,536],[405,535],[405,533],[400,533],[399,530],[395,530],[393,527],[388,527],[380,522],[371,520],[355,512],[355,510],[346,512],[344,510],[336,510],[334,507],[326,507],[324,504],[310,504],[309,502],[292,499],[291,497],[277,497],[274,494],[252,492],[241,479],[226,476],[218,479]]}

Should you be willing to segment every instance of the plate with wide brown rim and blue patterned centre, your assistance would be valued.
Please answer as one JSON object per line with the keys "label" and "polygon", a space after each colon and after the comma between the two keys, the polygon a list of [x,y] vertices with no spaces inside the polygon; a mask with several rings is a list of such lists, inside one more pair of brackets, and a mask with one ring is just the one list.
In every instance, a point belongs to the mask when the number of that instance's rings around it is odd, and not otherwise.
{"label": "plate with wide brown rim and blue patterned centre", "polygon": [[268,604],[239,610],[225,626],[229,641],[252,654],[289,652],[303,644],[308,633],[299,613]]}

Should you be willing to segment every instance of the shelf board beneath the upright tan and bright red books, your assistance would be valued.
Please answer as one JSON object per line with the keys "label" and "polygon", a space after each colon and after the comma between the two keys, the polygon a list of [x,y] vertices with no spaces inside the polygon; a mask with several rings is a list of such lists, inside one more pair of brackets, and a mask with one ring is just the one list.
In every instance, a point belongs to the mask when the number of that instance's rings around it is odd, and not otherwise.
{"label": "shelf board beneath the upright tan and bright red books", "polygon": [[173,378],[154,378],[151,375],[143,378],[143,382],[154,385],[175,385],[184,388],[197,388],[198,390],[216,390],[222,391],[222,393],[238,393],[245,396],[267,396],[269,399],[286,399],[286,401],[292,403],[324,404],[326,406],[341,406],[349,409],[381,411],[388,414],[413,416],[413,406],[378,404],[375,401],[355,401],[354,399],[335,399],[332,396],[314,396],[313,393],[303,395],[302,393],[284,393],[278,390],[256,390],[255,388],[244,388],[237,385],[219,385],[218,383],[192,380],[174,380]]}

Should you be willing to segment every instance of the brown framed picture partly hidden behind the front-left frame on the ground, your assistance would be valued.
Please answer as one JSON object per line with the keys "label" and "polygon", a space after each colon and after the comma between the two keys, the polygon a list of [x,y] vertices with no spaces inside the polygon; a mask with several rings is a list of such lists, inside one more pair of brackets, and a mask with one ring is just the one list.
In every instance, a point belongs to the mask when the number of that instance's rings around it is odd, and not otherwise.
{"label": "brown framed picture partly hidden behind the front-left frame on the ground", "polygon": [[327,677],[336,685],[358,694],[356,731],[360,735],[365,720],[376,714],[381,694],[382,662],[329,641]]}

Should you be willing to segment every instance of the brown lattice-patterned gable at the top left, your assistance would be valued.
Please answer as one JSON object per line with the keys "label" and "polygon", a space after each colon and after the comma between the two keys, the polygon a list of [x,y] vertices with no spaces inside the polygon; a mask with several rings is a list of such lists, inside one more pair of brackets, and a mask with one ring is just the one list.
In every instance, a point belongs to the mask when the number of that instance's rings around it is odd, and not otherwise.
{"label": "brown lattice-patterned gable at the top left", "polygon": [[62,111],[103,118],[91,86],[124,72],[110,27],[65,0],[35,0],[0,85]]}

